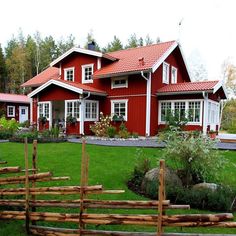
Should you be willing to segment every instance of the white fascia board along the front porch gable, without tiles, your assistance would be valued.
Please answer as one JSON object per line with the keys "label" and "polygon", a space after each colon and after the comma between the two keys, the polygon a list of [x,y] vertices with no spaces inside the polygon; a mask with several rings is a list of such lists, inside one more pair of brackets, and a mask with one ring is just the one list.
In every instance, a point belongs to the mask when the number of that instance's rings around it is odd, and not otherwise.
{"label": "white fascia board along the front porch gable, without tiles", "polygon": [[41,85],[37,89],[35,89],[33,92],[29,93],[28,97],[32,98],[34,95],[36,95],[37,93],[39,93],[40,91],[44,90],[45,88],[47,88],[48,86],[50,86],[52,84],[57,85],[62,88],[65,88],[65,89],[68,89],[68,90],[71,90],[71,91],[79,93],[79,94],[83,94],[83,89],[79,89],[79,88],[76,88],[76,87],[71,86],[69,84],[65,84],[63,82],[56,81],[56,80],[52,79],[52,80],[49,80],[47,83]]}

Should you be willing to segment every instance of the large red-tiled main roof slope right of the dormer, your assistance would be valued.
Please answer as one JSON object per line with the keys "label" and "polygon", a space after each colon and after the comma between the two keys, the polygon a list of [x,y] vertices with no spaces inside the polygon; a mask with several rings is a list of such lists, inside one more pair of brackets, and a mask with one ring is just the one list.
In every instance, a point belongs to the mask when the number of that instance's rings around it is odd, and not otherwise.
{"label": "large red-tiled main roof slope right of the dormer", "polygon": [[[119,73],[149,70],[175,43],[176,41],[170,41],[107,53],[118,60],[96,71],[93,76],[99,78]],[[143,63],[139,61],[142,58]]]}

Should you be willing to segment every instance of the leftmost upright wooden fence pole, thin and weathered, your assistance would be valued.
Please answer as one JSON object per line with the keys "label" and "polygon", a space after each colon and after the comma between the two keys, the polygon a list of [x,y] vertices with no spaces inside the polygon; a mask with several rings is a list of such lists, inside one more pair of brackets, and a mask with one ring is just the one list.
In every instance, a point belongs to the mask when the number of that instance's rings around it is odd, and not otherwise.
{"label": "leftmost upright wooden fence pole, thin and weathered", "polygon": [[29,230],[29,160],[28,160],[28,140],[25,138],[25,229],[27,234],[30,233]]}

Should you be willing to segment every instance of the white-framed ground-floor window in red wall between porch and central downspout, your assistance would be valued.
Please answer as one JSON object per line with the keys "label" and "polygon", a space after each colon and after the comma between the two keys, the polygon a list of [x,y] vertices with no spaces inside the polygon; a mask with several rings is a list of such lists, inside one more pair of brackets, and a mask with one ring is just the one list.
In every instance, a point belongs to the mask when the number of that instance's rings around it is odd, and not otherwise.
{"label": "white-framed ground-floor window in red wall between porch and central downspout", "polygon": [[112,115],[122,116],[125,121],[128,120],[128,99],[111,100]]}

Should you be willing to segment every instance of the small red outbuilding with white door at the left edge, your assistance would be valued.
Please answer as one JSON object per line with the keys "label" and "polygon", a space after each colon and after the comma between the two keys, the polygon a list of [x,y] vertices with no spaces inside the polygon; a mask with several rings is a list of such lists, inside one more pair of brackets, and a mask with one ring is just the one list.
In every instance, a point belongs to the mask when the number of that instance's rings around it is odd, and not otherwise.
{"label": "small red outbuilding with white door at the left edge", "polygon": [[0,93],[1,114],[23,123],[30,118],[30,99],[26,95]]}

